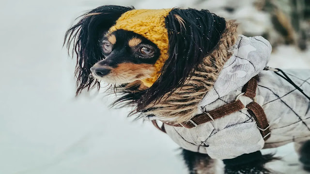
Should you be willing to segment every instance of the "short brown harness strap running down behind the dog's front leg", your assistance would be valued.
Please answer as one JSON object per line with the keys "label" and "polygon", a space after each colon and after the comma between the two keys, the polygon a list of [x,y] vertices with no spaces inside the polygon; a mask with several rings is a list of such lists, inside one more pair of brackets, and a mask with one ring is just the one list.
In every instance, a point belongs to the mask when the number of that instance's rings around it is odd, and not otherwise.
{"label": "short brown harness strap running down behind the dog's front leg", "polygon": [[263,111],[263,108],[257,102],[251,102],[247,105],[248,113],[253,116],[256,121],[257,128],[265,140],[270,137],[269,123]]}

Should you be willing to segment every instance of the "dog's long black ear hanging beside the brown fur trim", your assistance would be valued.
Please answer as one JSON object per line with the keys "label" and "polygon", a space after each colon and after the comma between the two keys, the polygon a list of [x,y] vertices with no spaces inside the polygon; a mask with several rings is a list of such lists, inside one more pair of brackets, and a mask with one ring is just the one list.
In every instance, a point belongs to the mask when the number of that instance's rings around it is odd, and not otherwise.
{"label": "dog's long black ear hanging beside the brown fur trim", "polygon": [[203,58],[217,47],[226,29],[224,18],[196,9],[172,9],[165,24],[169,37],[169,58],[157,81],[144,94],[144,98],[149,100],[138,102],[138,111],[184,85]]}

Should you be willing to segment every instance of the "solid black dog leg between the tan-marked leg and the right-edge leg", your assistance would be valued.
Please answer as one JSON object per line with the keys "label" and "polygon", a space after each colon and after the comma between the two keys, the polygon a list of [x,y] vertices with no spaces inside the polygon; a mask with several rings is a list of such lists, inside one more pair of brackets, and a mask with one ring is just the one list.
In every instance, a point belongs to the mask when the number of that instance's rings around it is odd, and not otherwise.
{"label": "solid black dog leg between the tan-marked leg and the right-edge leg", "polygon": [[272,160],[278,160],[273,155],[262,155],[260,151],[243,154],[237,158],[223,160],[225,174],[272,174],[264,167],[264,164]]}

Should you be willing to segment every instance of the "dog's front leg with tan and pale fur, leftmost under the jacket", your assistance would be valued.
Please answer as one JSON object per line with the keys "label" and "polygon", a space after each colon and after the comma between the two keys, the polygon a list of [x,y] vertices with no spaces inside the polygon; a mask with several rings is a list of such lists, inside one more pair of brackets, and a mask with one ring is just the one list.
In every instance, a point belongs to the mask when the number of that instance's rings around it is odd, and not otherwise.
{"label": "dog's front leg with tan and pale fur, leftmost under the jacket", "polygon": [[189,174],[223,174],[221,160],[211,159],[207,154],[201,154],[183,149],[183,159],[187,165]]}

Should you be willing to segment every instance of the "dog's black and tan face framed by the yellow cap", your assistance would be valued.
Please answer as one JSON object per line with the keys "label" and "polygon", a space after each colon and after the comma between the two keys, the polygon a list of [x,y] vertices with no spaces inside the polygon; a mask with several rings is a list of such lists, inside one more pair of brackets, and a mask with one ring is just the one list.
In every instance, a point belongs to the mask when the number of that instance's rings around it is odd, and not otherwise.
{"label": "dog's black and tan face framed by the yellow cap", "polygon": [[104,59],[90,69],[93,77],[112,84],[150,78],[160,56],[155,43],[132,31],[118,29],[100,40]]}

